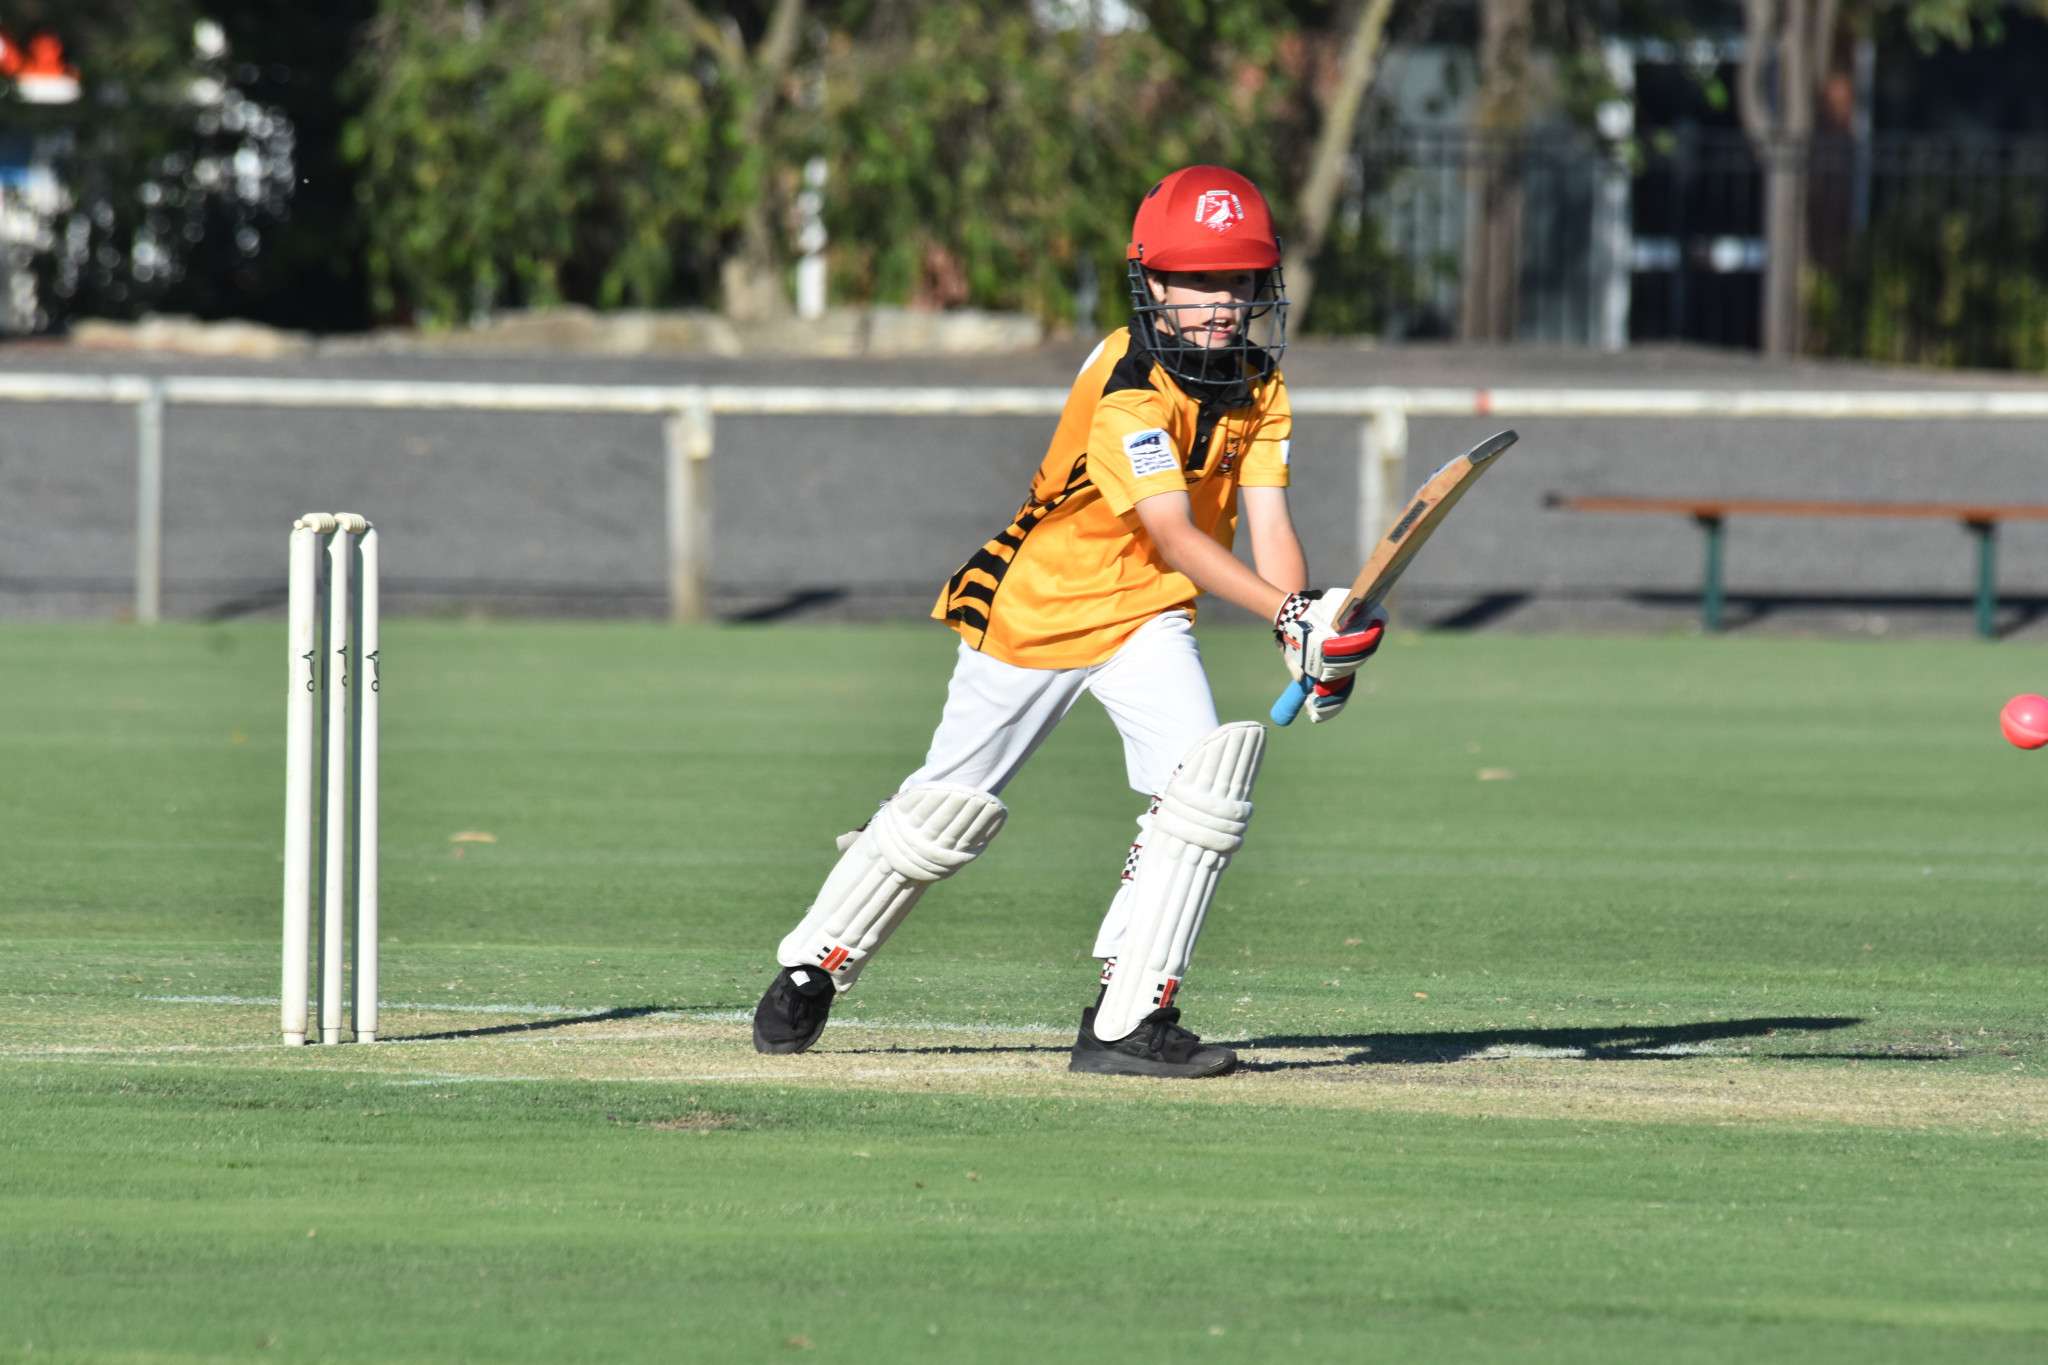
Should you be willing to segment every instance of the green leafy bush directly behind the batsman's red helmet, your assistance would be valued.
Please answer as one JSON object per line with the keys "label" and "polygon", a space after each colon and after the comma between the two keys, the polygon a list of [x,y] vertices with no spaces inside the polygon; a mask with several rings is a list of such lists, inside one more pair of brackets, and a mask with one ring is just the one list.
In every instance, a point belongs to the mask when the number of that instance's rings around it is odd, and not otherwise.
{"label": "green leafy bush directly behind the batsman's red helmet", "polygon": [[1255,57],[1219,74],[1151,31],[1047,31],[993,2],[889,18],[825,63],[827,221],[854,299],[1063,317],[1085,256],[1114,319],[1130,213],[1153,180],[1190,162],[1270,170],[1270,98],[1233,108],[1219,90],[1262,74]]}

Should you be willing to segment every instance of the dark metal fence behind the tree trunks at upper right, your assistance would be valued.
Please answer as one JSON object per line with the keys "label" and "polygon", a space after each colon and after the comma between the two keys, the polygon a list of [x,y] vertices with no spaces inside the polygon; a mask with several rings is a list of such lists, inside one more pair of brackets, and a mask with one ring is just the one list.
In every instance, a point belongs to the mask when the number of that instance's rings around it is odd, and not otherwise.
{"label": "dark metal fence behind the tree trunks at upper right", "polygon": [[[1810,354],[2048,368],[2048,139],[1815,137],[1772,156],[1806,180]],[[1352,256],[1323,276],[1354,282],[1354,321],[1384,340],[1755,348],[1763,176],[1720,129],[1628,147],[1391,131],[1358,162]],[[1489,196],[1507,252],[1481,239]],[[1505,303],[1489,272],[1511,274]]]}

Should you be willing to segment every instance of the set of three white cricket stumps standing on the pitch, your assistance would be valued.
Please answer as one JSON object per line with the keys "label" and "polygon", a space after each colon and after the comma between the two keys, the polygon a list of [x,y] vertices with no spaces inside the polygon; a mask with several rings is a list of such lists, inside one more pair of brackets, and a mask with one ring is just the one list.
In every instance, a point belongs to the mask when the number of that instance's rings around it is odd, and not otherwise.
{"label": "set of three white cricket stumps standing on the pitch", "polygon": [[[315,1005],[319,1042],[342,1042],[350,890],[350,1023],[356,1042],[369,1044],[377,1042],[377,530],[354,512],[309,512],[293,522],[289,636],[285,1044],[305,1042]],[[317,1001],[309,972],[315,886]]]}

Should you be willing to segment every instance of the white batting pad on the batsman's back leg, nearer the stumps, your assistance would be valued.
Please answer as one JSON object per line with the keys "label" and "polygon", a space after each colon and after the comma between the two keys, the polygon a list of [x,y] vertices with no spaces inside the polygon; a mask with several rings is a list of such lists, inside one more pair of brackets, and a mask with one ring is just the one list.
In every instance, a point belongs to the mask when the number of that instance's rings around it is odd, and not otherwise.
{"label": "white batting pad on the batsman's back leg, nearer the stumps", "polygon": [[817,966],[848,990],[932,882],[975,862],[1010,819],[987,792],[926,782],[897,792],[840,855],[776,960]]}

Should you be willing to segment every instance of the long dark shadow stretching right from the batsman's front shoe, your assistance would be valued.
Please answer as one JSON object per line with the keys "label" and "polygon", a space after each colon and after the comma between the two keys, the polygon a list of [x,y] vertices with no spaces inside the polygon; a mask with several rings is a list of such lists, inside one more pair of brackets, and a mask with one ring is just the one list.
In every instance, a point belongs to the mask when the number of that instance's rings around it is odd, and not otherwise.
{"label": "long dark shadow stretching right from the batsman's front shoe", "polygon": [[[1444,1033],[1276,1033],[1233,1042],[1243,1048],[1239,1070],[1319,1070],[1329,1066],[1415,1066],[1436,1062],[1509,1060],[1518,1056],[1653,1062],[1712,1054],[1716,1044],[1772,1033],[1829,1033],[1864,1023],[1849,1015],[1786,1015],[1772,1019],[1712,1019],[1706,1023],[1622,1025],[1612,1029],[1470,1029]],[[1264,1060],[1260,1048],[1352,1048],[1333,1060]],[[1802,1052],[1802,1058],[1892,1056],[1870,1052]],[[1898,1054],[1915,1060],[1921,1054]],[[1923,1060],[1933,1060],[1931,1056]]]}

